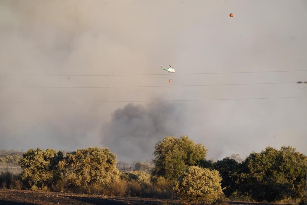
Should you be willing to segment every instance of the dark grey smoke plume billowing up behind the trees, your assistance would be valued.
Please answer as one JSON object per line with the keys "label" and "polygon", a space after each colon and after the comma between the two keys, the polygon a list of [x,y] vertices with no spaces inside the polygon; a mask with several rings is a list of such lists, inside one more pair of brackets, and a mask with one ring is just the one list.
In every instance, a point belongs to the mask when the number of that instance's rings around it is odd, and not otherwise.
{"label": "dark grey smoke plume billowing up behind the trees", "polygon": [[103,126],[102,142],[118,155],[119,161],[150,160],[159,140],[182,134],[184,115],[180,105],[130,103],[115,110],[111,121]]}

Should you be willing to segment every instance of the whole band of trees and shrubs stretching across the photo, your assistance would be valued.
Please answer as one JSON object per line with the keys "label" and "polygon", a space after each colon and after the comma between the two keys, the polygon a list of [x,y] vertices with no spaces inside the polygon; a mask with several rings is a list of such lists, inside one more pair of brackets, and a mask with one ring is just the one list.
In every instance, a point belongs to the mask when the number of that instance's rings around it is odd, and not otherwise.
{"label": "whole band of trees and shrubs stretching across the photo", "polygon": [[232,155],[216,162],[206,160],[207,152],[187,136],[165,137],[155,145],[151,164],[130,166],[117,163],[109,149],[30,149],[19,161],[22,173],[2,173],[0,188],[178,198],[184,203],[223,203],[225,198],[303,203],[307,157],[295,148],[267,147],[245,160]]}

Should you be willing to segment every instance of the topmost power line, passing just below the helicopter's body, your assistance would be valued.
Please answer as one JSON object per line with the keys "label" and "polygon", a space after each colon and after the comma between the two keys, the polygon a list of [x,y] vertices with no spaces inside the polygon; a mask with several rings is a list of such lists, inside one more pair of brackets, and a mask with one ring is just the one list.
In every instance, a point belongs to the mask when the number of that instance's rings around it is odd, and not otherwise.
{"label": "topmost power line, passing just below the helicopter's body", "polygon": [[143,75],[201,75],[201,74],[239,74],[239,73],[272,73],[272,72],[306,72],[294,71],[255,71],[255,72],[216,72],[216,73],[168,73],[168,74],[115,74],[115,75],[0,75],[0,77],[78,77],[78,76],[143,76]]}

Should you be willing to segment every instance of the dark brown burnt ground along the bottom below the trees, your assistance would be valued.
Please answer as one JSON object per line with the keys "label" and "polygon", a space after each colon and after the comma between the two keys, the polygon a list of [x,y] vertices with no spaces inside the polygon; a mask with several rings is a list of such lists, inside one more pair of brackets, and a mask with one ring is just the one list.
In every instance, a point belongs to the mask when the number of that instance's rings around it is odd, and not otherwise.
{"label": "dark brown burnt ground along the bottom below the trees", "polygon": [[[268,205],[273,203],[252,203],[227,201],[227,204]],[[33,204],[181,204],[174,199],[153,199],[140,197],[101,196],[86,194],[70,194],[14,189],[0,189],[0,204],[33,205]],[[274,204],[279,205],[279,204]],[[285,205],[285,204],[283,204]]]}

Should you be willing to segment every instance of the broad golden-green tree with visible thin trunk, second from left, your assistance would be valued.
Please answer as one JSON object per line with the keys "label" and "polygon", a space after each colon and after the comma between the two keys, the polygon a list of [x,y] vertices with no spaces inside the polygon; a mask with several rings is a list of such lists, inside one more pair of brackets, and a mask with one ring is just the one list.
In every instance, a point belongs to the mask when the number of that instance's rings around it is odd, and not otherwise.
{"label": "broad golden-green tree with visible thin trunk, second from left", "polygon": [[87,193],[90,194],[91,184],[97,182],[101,185],[108,185],[118,179],[116,157],[108,148],[78,149],[76,152],[67,154],[67,178],[71,184],[85,186]]}

